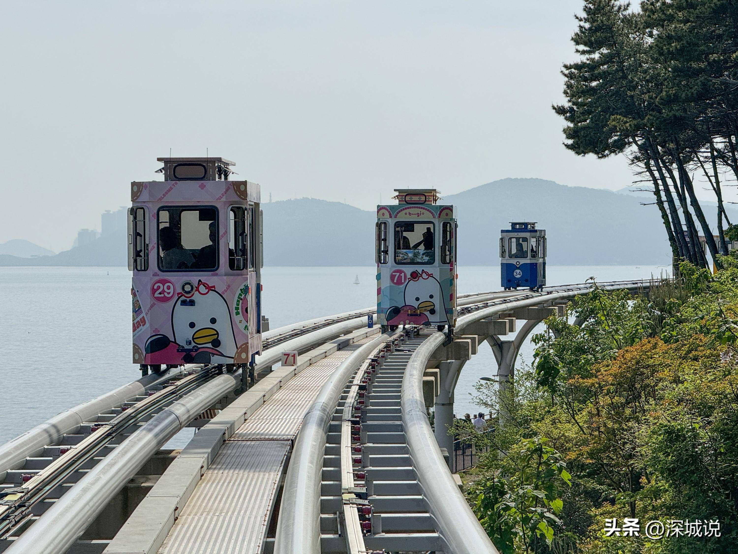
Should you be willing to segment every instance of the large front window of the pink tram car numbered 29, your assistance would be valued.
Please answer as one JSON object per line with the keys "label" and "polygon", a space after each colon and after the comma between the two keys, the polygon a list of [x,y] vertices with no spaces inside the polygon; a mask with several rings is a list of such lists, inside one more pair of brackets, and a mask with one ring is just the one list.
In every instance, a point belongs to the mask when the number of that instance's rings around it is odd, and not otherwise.
{"label": "large front window of the pink tram car numbered 29", "polygon": [[218,269],[218,211],[199,206],[159,208],[159,269]]}

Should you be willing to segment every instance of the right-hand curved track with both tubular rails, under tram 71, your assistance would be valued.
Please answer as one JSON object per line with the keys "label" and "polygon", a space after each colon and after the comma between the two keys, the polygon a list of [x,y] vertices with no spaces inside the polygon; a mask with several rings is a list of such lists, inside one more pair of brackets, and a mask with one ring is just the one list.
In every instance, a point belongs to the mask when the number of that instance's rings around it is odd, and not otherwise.
{"label": "right-hand curved track with both tubular rails, under tram 71", "polygon": [[[639,290],[648,284],[617,281],[599,286]],[[463,335],[463,329],[476,321],[568,301],[592,287],[551,287],[542,293],[494,295],[483,301],[480,295],[466,297],[455,335]],[[423,328],[384,338],[387,342],[377,352],[356,363],[360,365],[356,373],[343,383],[325,384],[321,403],[337,393],[340,397],[330,423],[310,428],[309,440],[301,442],[298,435],[275,553],[497,554],[452,479],[428,421],[424,372],[449,338]],[[318,431],[322,439],[316,437]],[[311,474],[306,474],[309,470]]]}

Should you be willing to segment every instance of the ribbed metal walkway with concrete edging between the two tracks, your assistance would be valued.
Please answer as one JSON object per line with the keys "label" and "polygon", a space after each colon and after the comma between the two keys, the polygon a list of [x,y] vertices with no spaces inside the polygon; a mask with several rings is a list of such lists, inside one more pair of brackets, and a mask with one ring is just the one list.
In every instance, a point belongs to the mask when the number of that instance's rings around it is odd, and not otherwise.
{"label": "ribbed metal walkway with concrete edging between the two tracks", "polygon": [[[164,538],[162,535],[166,533],[171,512],[165,498],[180,492],[171,492],[172,488],[190,486],[187,476],[180,479],[177,485],[176,476],[186,465],[187,457],[197,455],[198,441],[193,440],[192,445],[195,448],[188,447],[190,452],[187,448],[182,451],[179,456],[182,460],[179,463],[179,459],[173,462],[108,545],[105,553],[153,553],[157,548],[160,554],[235,554],[263,551],[277,491],[304,414],[331,372],[362,343],[370,341],[378,330],[364,329],[334,341],[335,352],[327,356],[325,347],[322,350],[317,349],[323,352],[325,357],[322,359],[317,359],[320,358],[320,352],[306,353],[303,356],[308,358],[306,369],[280,384],[261,407],[251,413],[246,410],[243,417],[247,419],[244,423],[238,428],[233,425],[235,431],[232,431],[222,445],[218,444],[221,441],[216,441],[213,445],[213,448],[219,446],[217,454],[207,469],[203,468],[201,478],[189,499],[180,497],[174,510],[177,514],[173,516],[175,521],[173,525],[169,524],[170,530]],[[340,346],[342,348],[337,349]],[[316,360],[309,364],[311,357]],[[283,372],[284,369],[286,368],[274,373]],[[277,377],[266,377],[261,388],[269,386],[270,378]],[[244,393],[222,411],[221,415],[225,418],[232,417],[233,412],[252,401],[250,397],[260,394],[259,389],[258,384]],[[220,420],[224,420],[224,417],[220,417]],[[198,432],[204,436],[196,436],[196,439],[207,442],[208,435],[212,436],[214,431],[217,434],[222,432],[223,428],[219,425],[221,423],[218,417],[214,418]],[[199,473],[200,468],[195,469]],[[155,521],[151,521],[152,519]],[[149,528],[142,530],[141,525]]]}

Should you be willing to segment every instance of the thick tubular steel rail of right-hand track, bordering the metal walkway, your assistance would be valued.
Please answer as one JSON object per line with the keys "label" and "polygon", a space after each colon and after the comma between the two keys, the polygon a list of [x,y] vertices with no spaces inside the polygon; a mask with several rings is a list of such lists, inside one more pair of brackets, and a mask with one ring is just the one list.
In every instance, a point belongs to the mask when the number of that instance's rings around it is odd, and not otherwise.
{"label": "thick tubular steel rail of right-hand track, bordering the metal walkway", "polygon": [[326,431],[356,368],[395,333],[379,335],[348,356],[320,389],[297,434],[277,520],[275,554],[320,553],[320,472]]}

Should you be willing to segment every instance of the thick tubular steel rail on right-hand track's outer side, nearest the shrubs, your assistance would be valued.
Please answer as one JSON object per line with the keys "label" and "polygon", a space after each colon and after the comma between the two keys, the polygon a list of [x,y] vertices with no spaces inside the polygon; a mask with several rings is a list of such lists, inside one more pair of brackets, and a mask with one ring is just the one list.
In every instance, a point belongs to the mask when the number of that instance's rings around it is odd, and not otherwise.
{"label": "thick tubular steel rail on right-hand track's outer side, nearest the shrubs", "polygon": [[[605,290],[632,290],[643,287],[644,281],[624,281],[601,286]],[[559,289],[556,292],[533,293],[525,295],[526,298],[523,299],[501,299],[494,306],[482,308],[459,318],[456,329],[461,332],[465,326],[492,315],[536,306],[541,304],[542,300],[568,299],[581,294],[583,290],[587,290],[587,287],[570,287],[568,290]],[[407,363],[401,390],[402,423],[407,449],[413,460],[415,474],[421,484],[430,512],[438,524],[438,532],[449,550],[454,553],[498,554],[494,544],[452,479],[448,465],[438,448],[438,442],[433,436],[425,408],[423,375],[430,356],[446,339],[446,335],[442,332],[433,333],[421,346],[418,346]]]}

